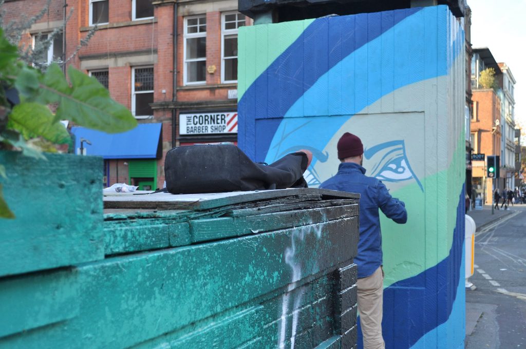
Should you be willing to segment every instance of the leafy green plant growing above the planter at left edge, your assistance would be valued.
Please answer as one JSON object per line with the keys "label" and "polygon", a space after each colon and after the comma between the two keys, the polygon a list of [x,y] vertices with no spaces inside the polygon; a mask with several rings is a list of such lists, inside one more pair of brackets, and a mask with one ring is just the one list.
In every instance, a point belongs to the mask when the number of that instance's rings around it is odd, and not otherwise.
{"label": "leafy green plant growing above the planter at left edge", "polygon": [[[50,104],[56,106],[55,113],[49,109]],[[60,120],[108,133],[137,125],[131,112],[114,101],[95,78],[72,66],[66,78],[55,63],[45,73],[25,64],[0,28],[0,149],[18,150],[45,160],[42,150],[47,144],[72,146]],[[8,176],[1,164],[0,176]],[[0,218],[14,218],[1,184]]]}

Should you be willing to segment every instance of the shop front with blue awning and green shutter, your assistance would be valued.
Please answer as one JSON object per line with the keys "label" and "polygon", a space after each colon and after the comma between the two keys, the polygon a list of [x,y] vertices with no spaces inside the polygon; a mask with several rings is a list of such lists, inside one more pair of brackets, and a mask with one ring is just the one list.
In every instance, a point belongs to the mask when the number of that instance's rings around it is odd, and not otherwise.
{"label": "shop front with blue awning and green shutter", "polygon": [[[104,159],[104,186],[127,183],[139,190],[155,190],[162,158],[162,124],[139,124],[121,134],[73,127],[75,153]],[[82,149],[82,150],[81,150]]]}

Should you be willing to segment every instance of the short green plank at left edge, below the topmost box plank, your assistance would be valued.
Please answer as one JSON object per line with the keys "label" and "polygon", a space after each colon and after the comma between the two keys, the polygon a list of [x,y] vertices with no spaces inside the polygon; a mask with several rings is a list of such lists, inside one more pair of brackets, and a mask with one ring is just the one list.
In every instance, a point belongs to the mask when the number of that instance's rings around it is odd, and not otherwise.
{"label": "short green plank at left edge, below the topmost box plank", "polygon": [[0,337],[77,316],[77,276],[60,269],[0,279]]}

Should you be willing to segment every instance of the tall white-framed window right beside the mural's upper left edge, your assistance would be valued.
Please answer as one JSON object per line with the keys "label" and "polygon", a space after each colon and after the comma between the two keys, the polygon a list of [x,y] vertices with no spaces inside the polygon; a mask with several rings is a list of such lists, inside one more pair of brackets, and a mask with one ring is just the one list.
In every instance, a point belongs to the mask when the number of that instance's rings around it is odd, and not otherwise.
{"label": "tall white-framed window right beside the mural's upper left edge", "polygon": [[221,81],[237,82],[237,29],[245,25],[245,15],[225,13],[221,25]]}

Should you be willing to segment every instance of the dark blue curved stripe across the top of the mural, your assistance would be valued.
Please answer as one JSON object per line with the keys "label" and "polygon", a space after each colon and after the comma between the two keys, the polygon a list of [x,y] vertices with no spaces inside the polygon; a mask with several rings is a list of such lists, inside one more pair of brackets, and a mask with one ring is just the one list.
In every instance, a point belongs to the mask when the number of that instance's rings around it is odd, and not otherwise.
{"label": "dark blue curved stripe across the top of the mural", "polygon": [[[372,31],[371,35],[368,18],[378,14],[318,18],[312,22],[239,100],[239,147],[254,158],[254,145],[246,142],[245,137],[253,139],[254,134],[248,133],[254,132],[256,119],[282,118],[296,100],[343,57],[419,11],[421,8],[390,11],[392,22]],[[275,131],[274,128],[271,134],[274,135]],[[261,141],[266,143],[265,149],[268,149],[270,139]]]}

